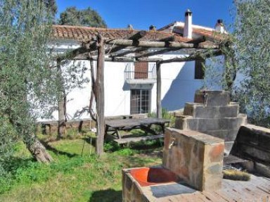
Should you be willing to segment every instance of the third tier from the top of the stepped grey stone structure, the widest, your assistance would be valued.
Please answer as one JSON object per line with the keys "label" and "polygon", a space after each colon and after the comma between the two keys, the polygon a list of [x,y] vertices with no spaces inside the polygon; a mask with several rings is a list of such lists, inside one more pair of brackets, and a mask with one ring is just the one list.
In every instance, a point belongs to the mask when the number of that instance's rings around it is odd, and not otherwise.
{"label": "third tier from the top of the stepped grey stone structure, the widest", "polygon": [[237,118],[193,118],[188,115],[176,117],[175,127],[180,130],[207,132],[211,130],[238,130],[245,125],[247,115],[238,114]]}

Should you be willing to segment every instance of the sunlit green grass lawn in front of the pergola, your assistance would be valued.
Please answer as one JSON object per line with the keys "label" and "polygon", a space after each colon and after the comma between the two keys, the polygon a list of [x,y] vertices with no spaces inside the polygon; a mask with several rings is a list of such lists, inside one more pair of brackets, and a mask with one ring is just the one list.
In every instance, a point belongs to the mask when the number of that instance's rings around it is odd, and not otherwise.
{"label": "sunlit green grass lawn in front of the pergola", "polygon": [[23,144],[8,162],[9,177],[0,178],[0,201],[122,201],[122,169],[161,164],[160,142],[150,141],[108,151],[97,158],[89,136],[51,141],[40,137],[55,162],[34,162]]}

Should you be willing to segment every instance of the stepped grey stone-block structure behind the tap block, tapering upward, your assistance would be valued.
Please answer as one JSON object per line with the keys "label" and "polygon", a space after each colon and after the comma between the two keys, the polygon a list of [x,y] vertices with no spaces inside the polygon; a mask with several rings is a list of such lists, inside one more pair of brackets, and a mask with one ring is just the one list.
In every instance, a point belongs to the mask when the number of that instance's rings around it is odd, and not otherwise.
{"label": "stepped grey stone-block structure behind the tap block, tapering upward", "polygon": [[225,153],[229,153],[247,116],[239,113],[238,103],[230,102],[228,91],[196,91],[194,101],[186,103],[184,115],[176,116],[175,127],[224,139]]}

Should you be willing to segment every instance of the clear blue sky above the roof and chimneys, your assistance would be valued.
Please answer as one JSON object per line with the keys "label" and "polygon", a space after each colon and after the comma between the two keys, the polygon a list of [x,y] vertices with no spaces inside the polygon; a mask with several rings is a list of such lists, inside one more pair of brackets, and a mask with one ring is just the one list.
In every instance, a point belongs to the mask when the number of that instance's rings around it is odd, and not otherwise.
{"label": "clear blue sky above the roof and chimneys", "polygon": [[56,0],[59,13],[69,6],[91,7],[105,20],[109,28],[133,25],[136,30],[148,30],[150,25],[164,27],[174,21],[184,22],[184,13],[193,12],[193,24],[214,27],[217,19],[225,25],[232,22],[233,0]]}

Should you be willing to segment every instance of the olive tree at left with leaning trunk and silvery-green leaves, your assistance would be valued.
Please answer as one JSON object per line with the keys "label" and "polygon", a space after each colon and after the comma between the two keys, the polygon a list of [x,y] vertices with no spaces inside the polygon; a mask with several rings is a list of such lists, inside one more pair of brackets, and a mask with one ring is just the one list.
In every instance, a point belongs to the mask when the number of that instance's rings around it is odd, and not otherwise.
{"label": "olive tree at left with leaning trunk and silvery-green leaves", "polygon": [[57,100],[47,46],[51,13],[43,1],[0,0],[0,19],[0,149],[23,140],[35,159],[49,163],[53,158],[36,137],[35,120]]}

